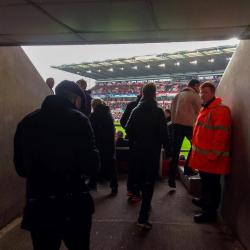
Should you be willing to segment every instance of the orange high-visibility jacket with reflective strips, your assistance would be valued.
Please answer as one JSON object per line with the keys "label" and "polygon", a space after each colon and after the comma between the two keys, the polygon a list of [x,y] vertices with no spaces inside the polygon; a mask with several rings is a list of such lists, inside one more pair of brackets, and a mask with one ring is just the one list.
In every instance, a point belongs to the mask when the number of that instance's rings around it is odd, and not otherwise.
{"label": "orange high-visibility jacket with reflective strips", "polygon": [[207,173],[229,174],[231,114],[218,97],[201,108],[194,126],[189,166]]}

